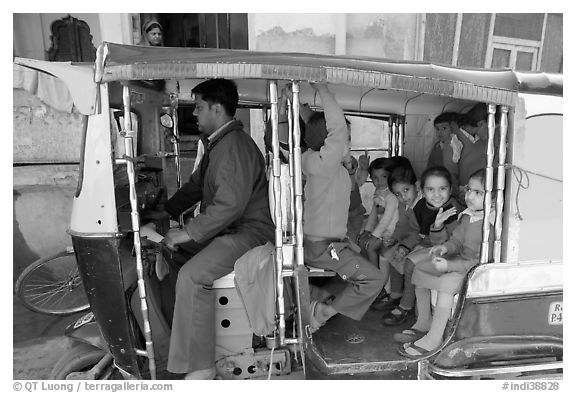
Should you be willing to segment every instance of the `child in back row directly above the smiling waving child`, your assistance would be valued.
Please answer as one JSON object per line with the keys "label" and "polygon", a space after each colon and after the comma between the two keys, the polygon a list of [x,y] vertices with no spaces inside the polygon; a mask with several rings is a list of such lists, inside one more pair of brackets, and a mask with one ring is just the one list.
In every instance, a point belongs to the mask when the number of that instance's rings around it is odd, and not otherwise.
{"label": "child in back row directly above the smiling waving child", "polygon": [[458,162],[462,153],[463,144],[456,135],[458,131],[458,119],[460,114],[456,112],[443,112],[434,119],[436,130],[436,142],[428,156],[427,168],[443,166],[452,176],[452,194],[458,195]]}

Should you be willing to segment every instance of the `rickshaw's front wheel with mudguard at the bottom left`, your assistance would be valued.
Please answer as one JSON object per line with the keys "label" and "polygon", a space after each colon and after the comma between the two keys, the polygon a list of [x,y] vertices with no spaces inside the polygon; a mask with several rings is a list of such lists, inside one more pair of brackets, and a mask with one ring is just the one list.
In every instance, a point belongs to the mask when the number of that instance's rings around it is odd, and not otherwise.
{"label": "rickshaw's front wheel with mudguard at the bottom left", "polygon": [[112,358],[107,352],[78,342],[54,365],[50,379],[106,380],[112,373]]}

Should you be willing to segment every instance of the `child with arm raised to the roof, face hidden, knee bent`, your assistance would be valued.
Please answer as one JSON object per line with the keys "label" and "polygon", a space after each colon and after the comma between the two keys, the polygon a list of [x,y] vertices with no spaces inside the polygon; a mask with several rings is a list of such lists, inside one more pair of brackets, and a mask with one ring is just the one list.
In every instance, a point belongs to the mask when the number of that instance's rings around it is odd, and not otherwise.
{"label": "child with arm raised to the roof, face hidden, knee bent", "polygon": [[302,155],[302,172],[306,176],[304,256],[308,265],[336,272],[346,286],[330,304],[312,302],[312,332],[337,313],[362,319],[384,286],[378,268],[346,239],[351,184],[342,165],[349,140],[344,113],[326,85],[313,87],[322,99],[325,118],[314,115],[309,119],[306,129],[309,149]]}

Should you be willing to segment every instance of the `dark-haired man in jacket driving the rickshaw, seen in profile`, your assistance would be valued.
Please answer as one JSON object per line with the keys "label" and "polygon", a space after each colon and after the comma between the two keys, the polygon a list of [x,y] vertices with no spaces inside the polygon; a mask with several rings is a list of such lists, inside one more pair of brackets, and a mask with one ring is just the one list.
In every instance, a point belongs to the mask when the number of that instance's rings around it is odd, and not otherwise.
{"label": "dark-haired man in jacket driving the rickshaw, seen in profile", "polygon": [[[180,269],[168,355],[168,371],[184,379],[216,376],[215,280],[234,270],[250,249],[274,241],[264,157],[242,123],[234,119],[238,90],[225,79],[205,81],[192,90],[205,147],[190,180],[153,218],[177,220],[201,201],[200,213],[163,240],[193,255]],[[152,218],[152,217],[150,217]]]}

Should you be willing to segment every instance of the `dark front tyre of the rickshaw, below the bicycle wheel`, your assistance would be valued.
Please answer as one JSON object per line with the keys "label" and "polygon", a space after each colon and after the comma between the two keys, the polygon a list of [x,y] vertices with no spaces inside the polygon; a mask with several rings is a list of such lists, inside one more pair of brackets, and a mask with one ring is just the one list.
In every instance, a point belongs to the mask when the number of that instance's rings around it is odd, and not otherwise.
{"label": "dark front tyre of the rickshaw, below the bicycle wheel", "polygon": [[[72,374],[79,373],[82,375],[90,371],[105,355],[106,352],[99,348],[84,343],[77,343],[54,365],[50,373],[50,379],[79,379]],[[97,375],[95,379],[109,379],[110,372],[108,371],[109,370],[102,370],[100,375]],[[86,377],[80,379],[86,379]]]}

